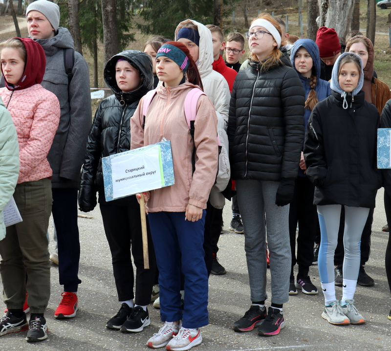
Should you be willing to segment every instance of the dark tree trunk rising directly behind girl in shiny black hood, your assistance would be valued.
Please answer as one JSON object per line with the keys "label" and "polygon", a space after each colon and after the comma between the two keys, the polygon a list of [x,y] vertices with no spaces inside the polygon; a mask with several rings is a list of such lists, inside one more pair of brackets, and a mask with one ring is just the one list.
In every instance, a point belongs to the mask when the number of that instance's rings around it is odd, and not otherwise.
{"label": "dark tree trunk rising directly behind girl in shiny black hood", "polygon": [[[104,66],[106,66],[110,57],[119,51],[117,17],[115,12],[115,0],[102,1],[102,22],[103,22],[103,55]],[[105,87],[107,87],[105,83]],[[109,96],[109,90],[105,90],[105,97]]]}

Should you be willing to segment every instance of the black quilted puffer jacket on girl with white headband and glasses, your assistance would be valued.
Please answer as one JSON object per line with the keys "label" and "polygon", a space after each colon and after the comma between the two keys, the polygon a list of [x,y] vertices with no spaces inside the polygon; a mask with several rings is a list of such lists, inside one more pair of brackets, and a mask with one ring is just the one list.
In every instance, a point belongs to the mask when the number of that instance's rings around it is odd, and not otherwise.
{"label": "black quilted puffer jacket on girl with white headband and glasses", "polygon": [[283,64],[239,71],[232,90],[228,138],[231,177],[280,181],[296,178],[304,139],[304,89]]}

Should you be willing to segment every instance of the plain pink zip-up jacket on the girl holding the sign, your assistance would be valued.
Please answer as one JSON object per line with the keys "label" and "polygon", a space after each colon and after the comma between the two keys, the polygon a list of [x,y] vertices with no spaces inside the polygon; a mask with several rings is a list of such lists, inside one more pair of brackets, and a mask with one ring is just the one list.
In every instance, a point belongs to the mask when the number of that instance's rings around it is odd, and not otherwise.
{"label": "plain pink zip-up jacket on the girl holding the sign", "polygon": [[159,86],[148,108],[145,129],[142,127],[144,98],[130,118],[130,149],[158,143],[163,137],[171,141],[175,184],[152,191],[148,201],[150,212],[185,212],[188,204],[206,208],[217,174],[217,115],[209,98],[201,95],[197,103],[193,141],[186,122],[184,102],[187,93],[195,87],[188,81],[173,88]]}

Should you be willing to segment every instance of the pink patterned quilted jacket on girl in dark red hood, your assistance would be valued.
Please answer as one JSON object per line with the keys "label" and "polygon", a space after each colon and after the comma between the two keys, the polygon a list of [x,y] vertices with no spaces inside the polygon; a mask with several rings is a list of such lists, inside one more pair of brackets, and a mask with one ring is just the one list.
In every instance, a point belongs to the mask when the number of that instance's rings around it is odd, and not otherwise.
{"label": "pink patterned quilted jacket on girl in dark red hood", "polygon": [[20,170],[18,184],[50,177],[46,156],[60,121],[56,95],[35,84],[22,90],[0,88],[18,134]]}

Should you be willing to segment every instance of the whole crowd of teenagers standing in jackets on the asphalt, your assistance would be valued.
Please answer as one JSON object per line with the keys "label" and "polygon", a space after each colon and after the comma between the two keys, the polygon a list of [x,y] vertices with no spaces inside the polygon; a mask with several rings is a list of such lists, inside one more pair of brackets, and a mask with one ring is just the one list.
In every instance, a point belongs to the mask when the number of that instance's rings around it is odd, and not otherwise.
{"label": "whole crowd of teenagers standing in jackets on the asphalt", "polygon": [[[382,186],[391,221],[391,173],[376,167],[377,129],[391,128],[391,92],[373,70],[368,38],[350,32],[341,40],[321,27],[316,42],[299,39],[261,13],[244,36],[225,41],[219,27],[185,20],[174,40],[156,35],[144,51],[109,59],[104,79],[113,94],[91,126],[88,66],[59,27],[58,5],[34,1],[26,20],[29,38],[0,44],[0,211],[13,196],[23,219],[5,228],[0,212],[0,336],[28,330],[28,342],[47,338],[49,258],[64,285],[54,317],[76,316],[77,209],[99,203],[119,301],[106,327],[143,331],[153,302],[163,324],[148,347],[199,345],[209,323],[208,277],[226,273],[217,260],[226,198],[229,229],[244,234],[251,302],[232,329],[279,334],[289,295],[318,293],[309,278],[316,263],[321,316],[335,325],[365,323],[354,294],[357,284],[374,284],[364,265]],[[249,55],[240,64],[245,39]],[[102,158],[164,138],[174,185],[107,201]],[[49,255],[51,215],[57,246]],[[391,285],[391,240],[385,264]]]}

